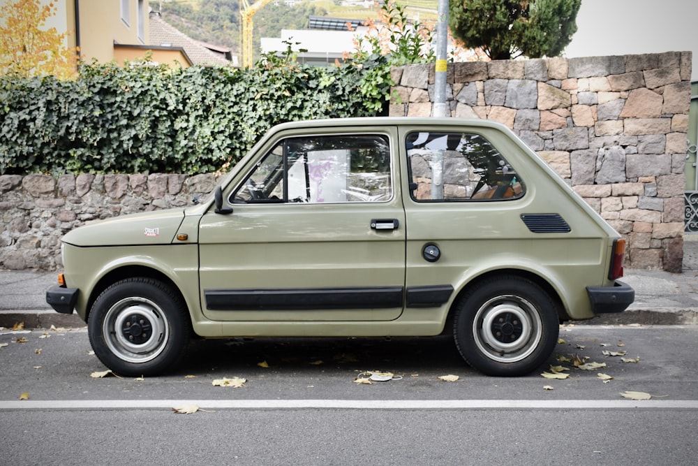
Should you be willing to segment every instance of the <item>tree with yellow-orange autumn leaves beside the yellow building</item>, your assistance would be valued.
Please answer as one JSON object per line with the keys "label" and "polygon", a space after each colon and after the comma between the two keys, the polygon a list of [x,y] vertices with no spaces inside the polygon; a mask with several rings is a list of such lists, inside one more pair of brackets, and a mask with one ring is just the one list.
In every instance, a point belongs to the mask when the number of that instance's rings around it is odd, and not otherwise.
{"label": "tree with yellow-orange autumn leaves beside the yellow building", "polygon": [[64,45],[68,33],[45,29],[56,10],[39,0],[11,0],[0,8],[0,75],[75,76],[77,50]]}

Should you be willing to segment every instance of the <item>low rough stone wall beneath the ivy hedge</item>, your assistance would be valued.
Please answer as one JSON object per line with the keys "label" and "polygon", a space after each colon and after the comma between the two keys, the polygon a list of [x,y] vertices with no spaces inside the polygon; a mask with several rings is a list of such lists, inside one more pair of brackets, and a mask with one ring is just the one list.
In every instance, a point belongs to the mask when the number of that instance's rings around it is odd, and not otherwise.
{"label": "low rough stone wall beneath the ivy hedge", "polygon": [[60,238],[92,220],[192,205],[212,174],[0,175],[0,268],[61,268]]}

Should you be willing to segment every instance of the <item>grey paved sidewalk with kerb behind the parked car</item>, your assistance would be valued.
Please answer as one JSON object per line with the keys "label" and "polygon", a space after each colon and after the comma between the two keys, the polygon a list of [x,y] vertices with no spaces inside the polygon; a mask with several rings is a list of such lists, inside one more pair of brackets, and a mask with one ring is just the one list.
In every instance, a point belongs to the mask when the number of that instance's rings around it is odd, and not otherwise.
{"label": "grey paved sidewalk with kerb behind the parked car", "polygon": [[[698,324],[698,236],[685,237],[683,268],[681,273],[626,269],[622,280],[634,288],[635,302],[621,314],[584,322]],[[25,328],[85,326],[77,314],[59,314],[46,304],[45,291],[56,282],[57,272],[0,270],[0,327],[17,322]]]}

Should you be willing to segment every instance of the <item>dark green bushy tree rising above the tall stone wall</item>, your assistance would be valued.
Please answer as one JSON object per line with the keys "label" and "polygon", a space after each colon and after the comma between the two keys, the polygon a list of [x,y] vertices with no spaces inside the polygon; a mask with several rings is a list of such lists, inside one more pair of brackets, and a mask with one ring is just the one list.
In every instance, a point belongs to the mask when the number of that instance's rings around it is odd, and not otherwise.
{"label": "dark green bushy tree rising above the tall stone wall", "polygon": [[451,0],[449,26],[490,59],[556,57],[577,31],[581,0]]}

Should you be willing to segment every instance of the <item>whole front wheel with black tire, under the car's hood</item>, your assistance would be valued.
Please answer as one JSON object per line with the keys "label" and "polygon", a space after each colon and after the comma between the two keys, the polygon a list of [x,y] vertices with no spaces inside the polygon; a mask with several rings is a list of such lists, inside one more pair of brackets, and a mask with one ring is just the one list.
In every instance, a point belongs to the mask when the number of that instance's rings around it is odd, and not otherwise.
{"label": "whole front wheel with black tire, under the car's hood", "polygon": [[98,296],[87,332],[94,354],[116,374],[156,375],[184,354],[189,314],[170,286],[151,278],[129,278]]}

